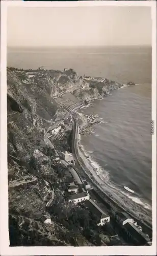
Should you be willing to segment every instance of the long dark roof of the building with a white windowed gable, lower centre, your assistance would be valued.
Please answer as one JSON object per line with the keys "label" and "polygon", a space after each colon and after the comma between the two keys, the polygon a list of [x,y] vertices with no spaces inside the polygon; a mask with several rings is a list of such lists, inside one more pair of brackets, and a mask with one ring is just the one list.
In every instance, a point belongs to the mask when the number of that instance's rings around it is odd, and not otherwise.
{"label": "long dark roof of the building with a white windowed gable, lower centre", "polygon": [[89,201],[87,201],[87,205],[89,207],[89,209],[99,218],[99,219],[103,219],[106,217],[109,217],[109,215],[100,208],[100,206],[95,203],[92,199],[90,199]]}

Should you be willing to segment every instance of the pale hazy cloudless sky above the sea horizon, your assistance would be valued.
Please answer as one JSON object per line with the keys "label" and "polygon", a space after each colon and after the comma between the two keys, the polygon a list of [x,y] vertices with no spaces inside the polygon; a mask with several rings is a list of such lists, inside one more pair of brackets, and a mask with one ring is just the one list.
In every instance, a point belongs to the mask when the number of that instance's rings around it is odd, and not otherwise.
{"label": "pale hazy cloudless sky above the sea horizon", "polygon": [[9,7],[8,46],[151,45],[150,7]]}

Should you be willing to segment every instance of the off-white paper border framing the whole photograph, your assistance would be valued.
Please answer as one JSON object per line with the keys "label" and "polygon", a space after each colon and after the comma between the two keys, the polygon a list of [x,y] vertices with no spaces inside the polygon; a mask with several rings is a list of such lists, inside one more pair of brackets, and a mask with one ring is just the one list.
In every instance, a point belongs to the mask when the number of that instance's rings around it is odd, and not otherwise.
{"label": "off-white paper border framing the whole photograph", "polygon": [[[8,168],[7,168],[7,8],[20,7],[79,7],[79,6],[147,6],[152,18],[152,226],[151,246],[107,247],[9,247]],[[156,1],[78,1],[24,2],[1,1],[1,255],[156,255]]]}

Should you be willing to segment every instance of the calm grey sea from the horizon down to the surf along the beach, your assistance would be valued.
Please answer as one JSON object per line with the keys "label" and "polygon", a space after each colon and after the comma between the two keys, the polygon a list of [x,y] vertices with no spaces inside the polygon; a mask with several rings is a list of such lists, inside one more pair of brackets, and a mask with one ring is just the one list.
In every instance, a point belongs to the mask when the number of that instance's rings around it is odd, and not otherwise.
{"label": "calm grey sea from the horizon down to the surf along the beach", "polygon": [[106,77],[126,84],[81,112],[97,114],[101,124],[81,136],[97,173],[126,206],[151,221],[151,48],[12,48],[7,66],[36,69],[73,68],[79,75]]}

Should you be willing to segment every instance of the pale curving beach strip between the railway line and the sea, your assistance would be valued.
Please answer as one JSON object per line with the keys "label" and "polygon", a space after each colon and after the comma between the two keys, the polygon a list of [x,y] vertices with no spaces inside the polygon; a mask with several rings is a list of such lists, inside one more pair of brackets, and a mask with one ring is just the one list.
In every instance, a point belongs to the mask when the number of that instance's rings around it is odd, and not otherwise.
{"label": "pale curving beach strip between the railway line and the sea", "polygon": [[[82,114],[79,112],[77,112],[77,115],[79,115],[80,118],[82,116]],[[84,164],[89,169],[89,172],[86,172],[88,177],[92,179],[92,181],[94,180],[95,185],[99,187],[102,193],[106,193],[122,207],[127,208],[130,214],[134,214],[138,219],[147,220],[151,223],[151,218],[149,218],[151,206],[148,203],[143,202],[138,195],[133,194],[131,191],[128,191],[125,188],[118,188],[116,184],[112,183],[109,172],[94,160],[92,156],[93,152],[85,150],[81,140],[82,134],[80,131],[78,139],[78,151]]]}

